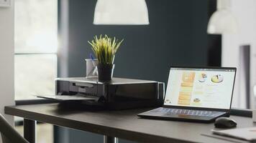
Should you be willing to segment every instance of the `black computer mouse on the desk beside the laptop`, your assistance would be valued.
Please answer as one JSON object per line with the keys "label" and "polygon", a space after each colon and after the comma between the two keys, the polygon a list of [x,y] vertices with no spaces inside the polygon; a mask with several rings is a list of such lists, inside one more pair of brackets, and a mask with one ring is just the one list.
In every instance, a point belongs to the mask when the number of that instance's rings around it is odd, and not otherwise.
{"label": "black computer mouse on the desk beside the laptop", "polygon": [[232,128],[237,127],[237,122],[234,119],[230,119],[228,117],[219,117],[215,120],[214,123],[216,128]]}

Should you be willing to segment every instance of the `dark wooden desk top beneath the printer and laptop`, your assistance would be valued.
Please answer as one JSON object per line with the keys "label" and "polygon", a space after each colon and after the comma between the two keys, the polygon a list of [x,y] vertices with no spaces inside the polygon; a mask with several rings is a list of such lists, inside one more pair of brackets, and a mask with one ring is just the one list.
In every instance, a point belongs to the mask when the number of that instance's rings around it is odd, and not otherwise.
{"label": "dark wooden desk top beneath the printer and laptop", "polygon": [[[5,113],[39,122],[70,127],[87,132],[119,137],[137,142],[230,142],[201,134],[211,134],[214,124],[140,119],[137,114],[149,109],[91,111],[62,109],[58,104],[5,107]],[[256,127],[251,118],[235,117],[238,127]],[[217,136],[215,136],[217,137]],[[242,142],[231,139],[233,142]]]}

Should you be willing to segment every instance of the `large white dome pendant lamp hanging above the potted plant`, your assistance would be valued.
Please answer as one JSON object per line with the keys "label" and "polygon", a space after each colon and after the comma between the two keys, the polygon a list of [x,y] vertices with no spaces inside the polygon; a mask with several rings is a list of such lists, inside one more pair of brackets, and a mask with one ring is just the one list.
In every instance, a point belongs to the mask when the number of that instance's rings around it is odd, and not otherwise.
{"label": "large white dome pendant lamp hanging above the potted plant", "polygon": [[98,0],[93,24],[103,25],[147,25],[145,0]]}

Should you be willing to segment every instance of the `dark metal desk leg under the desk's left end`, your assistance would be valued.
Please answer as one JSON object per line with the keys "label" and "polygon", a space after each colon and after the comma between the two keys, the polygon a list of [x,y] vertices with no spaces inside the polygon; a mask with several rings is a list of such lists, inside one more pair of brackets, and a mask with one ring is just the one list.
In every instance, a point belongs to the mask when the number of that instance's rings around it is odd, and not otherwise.
{"label": "dark metal desk leg under the desk's left end", "polygon": [[30,120],[30,119],[24,119],[24,138],[27,139],[29,143],[36,143],[36,125],[37,122]]}

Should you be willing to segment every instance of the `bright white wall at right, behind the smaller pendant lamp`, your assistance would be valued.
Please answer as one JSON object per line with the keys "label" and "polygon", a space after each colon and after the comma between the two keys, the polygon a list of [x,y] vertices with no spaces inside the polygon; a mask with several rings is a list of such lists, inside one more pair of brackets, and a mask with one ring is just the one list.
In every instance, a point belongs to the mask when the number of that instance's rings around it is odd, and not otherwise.
{"label": "bright white wall at right, behind the smaller pendant lamp", "polygon": [[[251,97],[253,85],[256,84],[256,1],[255,0],[232,0],[232,12],[237,18],[238,33],[222,35],[222,66],[236,66],[238,68],[237,79],[234,89],[232,107],[245,108],[244,87],[239,77],[239,46],[250,44],[251,46]],[[253,106],[253,103],[251,103]]]}

